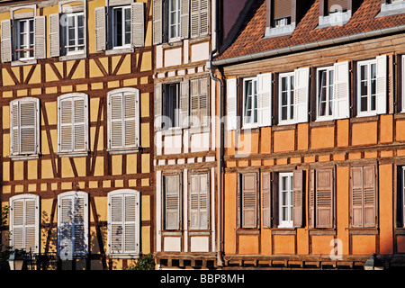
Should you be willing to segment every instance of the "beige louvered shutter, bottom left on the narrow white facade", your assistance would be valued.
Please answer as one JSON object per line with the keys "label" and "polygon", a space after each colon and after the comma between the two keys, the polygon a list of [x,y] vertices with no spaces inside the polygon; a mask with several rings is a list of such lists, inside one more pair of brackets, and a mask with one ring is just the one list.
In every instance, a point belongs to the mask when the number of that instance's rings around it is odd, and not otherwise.
{"label": "beige louvered shutter, bottom left on the narrow white facade", "polygon": [[165,176],[165,229],[180,229],[180,175]]}

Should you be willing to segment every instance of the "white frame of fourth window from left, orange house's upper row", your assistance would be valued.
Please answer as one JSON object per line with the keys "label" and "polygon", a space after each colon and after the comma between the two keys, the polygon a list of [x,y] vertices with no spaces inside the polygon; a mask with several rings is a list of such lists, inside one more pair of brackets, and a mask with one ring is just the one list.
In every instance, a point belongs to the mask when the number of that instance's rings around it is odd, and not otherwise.
{"label": "white frame of fourth window from left, orange house's upper row", "polygon": [[[374,94],[374,102],[375,102],[375,107],[374,110],[371,108],[371,103],[372,103],[372,74],[371,74],[371,67],[372,65],[375,66],[375,94]],[[367,67],[367,110],[366,111],[361,111],[361,100],[362,100],[362,95],[361,95],[361,67],[366,66]],[[374,116],[377,114],[378,108],[377,108],[377,60],[376,59],[370,59],[370,60],[365,60],[365,61],[360,61],[357,63],[357,115],[358,116]]]}

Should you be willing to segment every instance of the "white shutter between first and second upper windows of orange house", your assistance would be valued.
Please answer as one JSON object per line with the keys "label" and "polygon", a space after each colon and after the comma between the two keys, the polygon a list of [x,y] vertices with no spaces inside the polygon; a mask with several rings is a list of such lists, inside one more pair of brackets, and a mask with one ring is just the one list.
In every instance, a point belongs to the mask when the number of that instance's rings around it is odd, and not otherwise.
{"label": "white shutter between first and second upper windows of orange house", "polygon": [[272,78],[271,73],[257,75],[257,115],[260,127],[272,125]]}

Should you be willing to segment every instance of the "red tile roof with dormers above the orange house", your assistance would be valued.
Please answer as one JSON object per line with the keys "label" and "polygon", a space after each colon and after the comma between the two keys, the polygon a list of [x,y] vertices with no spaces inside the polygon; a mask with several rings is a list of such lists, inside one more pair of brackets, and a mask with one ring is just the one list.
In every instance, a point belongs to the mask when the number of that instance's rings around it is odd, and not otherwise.
{"label": "red tile roof with dormers above the orange house", "polygon": [[215,60],[236,58],[405,24],[405,12],[375,18],[380,13],[381,3],[381,0],[365,0],[356,9],[349,22],[343,26],[316,29],[320,15],[320,0],[314,0],[291,35],[263,39],[266,31],[266,0],[257,0],[252,4],[235,40]]}

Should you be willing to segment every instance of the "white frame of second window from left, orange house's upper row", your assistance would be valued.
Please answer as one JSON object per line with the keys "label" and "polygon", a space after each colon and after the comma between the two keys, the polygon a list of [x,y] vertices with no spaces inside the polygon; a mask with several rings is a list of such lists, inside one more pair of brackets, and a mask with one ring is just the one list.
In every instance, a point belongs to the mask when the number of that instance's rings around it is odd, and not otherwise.
{"label": "white frame of second window from left, orange house's upper row", "polygon": [[[282,103],[282,97],[283,97],[283,85],[282,81],[283,78],[287,78],[287,119],[283,120],[283,103]],[[292,79],[293,77],[293,79]],[[292,103],[292,93],[294,94],[294,82],[295,82],[295,73],[294,72],[289,72],[289,73],[283,73],[279,75],[279,84],[278,84],[278,119],[279,119],[279,124],[293,124],[295,122],[294,118],[294,113],[296,112],[295,110],[295,105]],[[293,88],[292,88],[293,84]],[[295,95],[293,95],[293,99],[295,100]],[[291,113],[291,108],[293,107],[293,113]]]}

